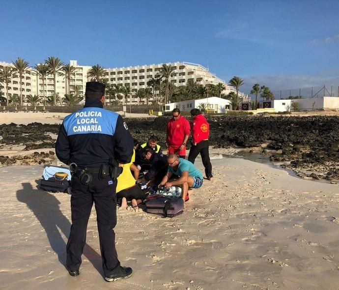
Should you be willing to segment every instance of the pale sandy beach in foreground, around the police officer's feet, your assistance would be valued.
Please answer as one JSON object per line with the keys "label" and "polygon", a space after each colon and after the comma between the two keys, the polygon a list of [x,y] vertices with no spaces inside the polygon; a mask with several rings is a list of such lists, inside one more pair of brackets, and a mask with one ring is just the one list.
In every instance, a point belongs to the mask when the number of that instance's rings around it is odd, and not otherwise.
{"label": "pale sandy beach in foreground, around the police officer's feet", "polygon": [[71,277],[70,196],[37,189],[41,165],[0,167],[0,288],[338,289],[339,185],[222,153],[213,150],[214,178],[193,191],[182,215],[117,211],[119,260],[134,274],[112,284],[102,277],[94,208],[81,274]]}

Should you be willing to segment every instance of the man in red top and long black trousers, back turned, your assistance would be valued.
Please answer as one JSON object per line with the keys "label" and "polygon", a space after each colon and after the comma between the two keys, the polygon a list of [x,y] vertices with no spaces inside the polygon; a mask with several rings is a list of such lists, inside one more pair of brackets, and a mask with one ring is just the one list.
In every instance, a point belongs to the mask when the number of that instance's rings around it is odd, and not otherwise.
{"label": "man in red top and long black trousers, back turned", "polygon": [[211,180],[213,175],[208,151],[209,124],[199,109],[192,109],[191,116],[193,118],[192,147],[188,154],[188,161],[191,161],[194,164],[194,161],[200,153],[202,164],[205,167],[206,178]]}

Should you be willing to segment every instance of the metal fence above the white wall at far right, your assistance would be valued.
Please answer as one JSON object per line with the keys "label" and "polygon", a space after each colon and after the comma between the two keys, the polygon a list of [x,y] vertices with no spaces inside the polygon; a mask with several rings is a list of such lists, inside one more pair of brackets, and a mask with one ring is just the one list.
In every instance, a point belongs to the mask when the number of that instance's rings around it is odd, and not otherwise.
{"label": "metal fence above the white wall at far right", "polygon": [[272,91],[275,99],[339,97],[339,86],[303,87]]}

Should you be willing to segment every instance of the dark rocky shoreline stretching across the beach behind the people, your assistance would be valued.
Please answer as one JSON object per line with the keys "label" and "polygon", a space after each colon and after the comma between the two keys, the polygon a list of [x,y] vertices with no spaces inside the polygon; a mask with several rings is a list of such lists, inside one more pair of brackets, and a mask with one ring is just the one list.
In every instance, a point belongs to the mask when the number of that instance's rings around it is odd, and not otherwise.
{"label": "dark rocky shoreline stretching across the beach behind the people", "polygon": [[[338,116],[207,116],[210,145],[240,147],[270,156],[273,162],[302,178],[339,180]],[[165,145],[168,117],[126,118],[134,138],[145,142],[157,135]],[[47,148],[46,152],[0,156],[0,165],[51,164],[59,125],[30,123],[0,125],[0,154],[4,148],[24,145],[24,150]]]}

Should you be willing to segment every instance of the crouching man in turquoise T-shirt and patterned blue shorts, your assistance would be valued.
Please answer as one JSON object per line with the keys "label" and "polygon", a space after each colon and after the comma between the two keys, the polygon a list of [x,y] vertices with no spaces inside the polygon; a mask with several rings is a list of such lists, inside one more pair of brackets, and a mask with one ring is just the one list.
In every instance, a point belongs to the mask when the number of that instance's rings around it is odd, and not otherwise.
{"label": "crouching man in turquoise T-shirt and patterned blue shorts", "polygon": [[[185,202],[188,188],[199,188],[202,185],[202,174],[195,165],[175,154],[169,154],[167,157],[169,168],[160,185],[170,187],[172,185],[180,186],[182,189],[182,199]],[[179,176],[178,179],[170,180],[172,174]]]}

